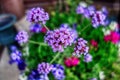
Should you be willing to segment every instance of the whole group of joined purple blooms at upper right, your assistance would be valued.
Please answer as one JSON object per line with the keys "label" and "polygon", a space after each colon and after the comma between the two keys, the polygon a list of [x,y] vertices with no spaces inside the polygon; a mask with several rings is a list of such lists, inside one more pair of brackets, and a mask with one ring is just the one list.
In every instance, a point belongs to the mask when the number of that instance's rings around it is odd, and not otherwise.
{"label": "whole group of joined purple blooms at upper right", "polygon": [[107,25],[108,21],[106,20],[106,15],[108,11],[105,7],[101,9],[101,11],[96,11],[94,6],[83,7],[79,5],[76,8],[77,14],[82,14],[86,18],[92,18],[92,24],[94,28],[97,28],[100,25]]}

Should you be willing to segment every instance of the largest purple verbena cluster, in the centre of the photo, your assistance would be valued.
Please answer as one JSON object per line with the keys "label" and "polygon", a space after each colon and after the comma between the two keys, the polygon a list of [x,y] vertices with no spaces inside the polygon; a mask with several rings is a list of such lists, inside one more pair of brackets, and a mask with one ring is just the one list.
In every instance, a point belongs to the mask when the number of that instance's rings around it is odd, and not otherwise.
{"label": "largest purple verbena cluster, in the centre of the photo", "polygon": [[48,31],[45,36],[45,42],[52,47],[54,52],[63,52],[64,48],[70,46],[75,38],[76,33],[67,25],[61,25],[59,29]]}

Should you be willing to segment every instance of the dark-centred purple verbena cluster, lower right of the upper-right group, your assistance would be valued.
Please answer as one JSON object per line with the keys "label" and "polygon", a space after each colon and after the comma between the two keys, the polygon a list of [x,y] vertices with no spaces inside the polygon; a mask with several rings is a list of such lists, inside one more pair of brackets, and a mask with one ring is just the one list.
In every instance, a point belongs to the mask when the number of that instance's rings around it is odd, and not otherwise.
{"label": "dark-centred purple verbena cluster, lower right of the upper-right group", "polygon": [[92,15],[92,24],[94,28],[97,28],[100,25],[106,25],[106,15],[101,11],[96,11]]}

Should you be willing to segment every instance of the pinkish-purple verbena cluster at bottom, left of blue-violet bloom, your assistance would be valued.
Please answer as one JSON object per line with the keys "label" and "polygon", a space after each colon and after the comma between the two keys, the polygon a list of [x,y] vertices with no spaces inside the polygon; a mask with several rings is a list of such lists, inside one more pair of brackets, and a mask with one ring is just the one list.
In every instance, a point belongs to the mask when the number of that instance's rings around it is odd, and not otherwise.
{"label": "pinkish-purple verbena cluster at bottom, left of blue-violet bloom", "polygon": [[38,72],[39,74],[48,74],[52,69],[52,65],[49,63],[42,62],[41,64],[38,64]]}

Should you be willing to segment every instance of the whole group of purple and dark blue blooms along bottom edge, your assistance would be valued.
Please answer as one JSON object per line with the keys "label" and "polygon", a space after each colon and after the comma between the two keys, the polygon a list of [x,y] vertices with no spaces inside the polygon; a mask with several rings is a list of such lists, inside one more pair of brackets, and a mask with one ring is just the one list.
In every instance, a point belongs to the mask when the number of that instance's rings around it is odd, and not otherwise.
{"label": "whole group of purple and dark blue blooms along bottom edge", "polygon": [[55,80],[64,80],[64,67],[60,64],[51,65],[42,62],[38,64],[37,70],[32,70],[28,75],[28,80],[49,80],[48,74],[52,72]]}

